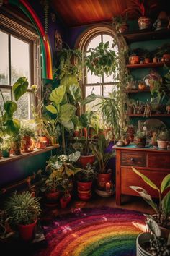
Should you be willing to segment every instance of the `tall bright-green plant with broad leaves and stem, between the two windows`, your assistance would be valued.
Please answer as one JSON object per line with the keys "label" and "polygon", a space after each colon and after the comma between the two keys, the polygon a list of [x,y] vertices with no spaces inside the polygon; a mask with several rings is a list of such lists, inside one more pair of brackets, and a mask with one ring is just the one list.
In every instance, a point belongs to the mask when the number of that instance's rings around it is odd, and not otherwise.
{"label": "tall bright-green plant with broad leaves and stem, between the two windows", "polygon": [[63,77],[60,86],[50,93],[49,99],[51,103],[46,109],[53,114],[55,124],[60,127],[63,153],[66,155],[65,132],[72,132],[76,126],[78,120],[76,109],[81,99],[81,89],[76,77],[71,75]]}

